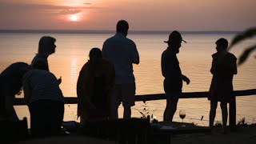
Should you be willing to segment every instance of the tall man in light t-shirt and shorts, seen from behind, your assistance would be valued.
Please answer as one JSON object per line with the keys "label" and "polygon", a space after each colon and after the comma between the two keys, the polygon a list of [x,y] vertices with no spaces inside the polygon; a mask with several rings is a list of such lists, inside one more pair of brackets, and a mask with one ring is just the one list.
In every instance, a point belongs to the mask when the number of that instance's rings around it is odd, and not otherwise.
{"label": "tall man in light t-shirt and shorts, seen from behind", "polygon": [[135,105],[135,78],[133,63],[139,63],[135,43],[126,38],[129,25],[125,20],[117,24],[117,33],[106,39],[102,47],[102,57],[114,64],[115,88],[111,98],[110,118],[118,118],[118,106],[122,102],[123,118],[130,118],[130,106]]}

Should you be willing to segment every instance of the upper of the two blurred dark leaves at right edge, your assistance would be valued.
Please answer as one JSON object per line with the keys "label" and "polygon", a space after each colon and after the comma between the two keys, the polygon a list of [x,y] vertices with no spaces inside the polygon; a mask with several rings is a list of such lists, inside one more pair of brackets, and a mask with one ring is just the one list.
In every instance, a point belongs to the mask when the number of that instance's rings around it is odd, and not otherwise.
{"label": "upper of the two blurred dark leaves at right edge", "polygon": [[256,35],[256,27],[250,28],[246,31],[244,31],[242,34],[238,34],[233,38],[233,40],[230,42],[230,46],[227,50],[230,50],[232,46],[237,44],[238,42],[242,42],[242,40],[245,40],[247,38],[252,38]]}

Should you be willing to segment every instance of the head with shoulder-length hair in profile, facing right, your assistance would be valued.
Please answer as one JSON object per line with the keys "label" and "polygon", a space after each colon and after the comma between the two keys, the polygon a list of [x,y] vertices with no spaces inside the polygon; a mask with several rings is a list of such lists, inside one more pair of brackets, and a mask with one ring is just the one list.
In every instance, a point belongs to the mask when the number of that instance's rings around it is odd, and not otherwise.
{"label": "head with shoulder-length hair in profile, facing right", "polygon": [[38,54],[50,55],[55,52],[56,39],[50,36],[43,36],[38,43]]}

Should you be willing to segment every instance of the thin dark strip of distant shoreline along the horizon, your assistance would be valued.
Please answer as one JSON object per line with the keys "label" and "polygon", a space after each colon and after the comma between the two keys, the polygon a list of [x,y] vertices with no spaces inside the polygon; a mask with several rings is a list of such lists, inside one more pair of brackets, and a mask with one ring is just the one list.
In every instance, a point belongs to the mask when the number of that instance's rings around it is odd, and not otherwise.
{"label": "thin dark strip of distant shoreline along the horizon", "polygon": [[[130,30],[130,34],[170,34],[172,30]],[[242,31],[206,30],[180,31],[182,34],[238,34]],[[28,34],[114,34],[114,30],[0,30],[0,33],[28,33]]]}

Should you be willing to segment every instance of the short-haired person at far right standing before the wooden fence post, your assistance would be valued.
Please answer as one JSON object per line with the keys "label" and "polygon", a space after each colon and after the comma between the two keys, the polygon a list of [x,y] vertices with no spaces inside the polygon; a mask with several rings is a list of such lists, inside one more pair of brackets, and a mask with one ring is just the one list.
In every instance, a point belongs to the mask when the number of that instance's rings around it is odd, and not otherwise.
{"label": "short-haired person at far right standing before the wooden fence post", "polygon": [[221,102],[222,123],[226,133],[227,103],[233,94],[233,76],[238,73],[234,54],[226,51],[228,42],[225,38],[218,39],[216,43],[217,53],[213,54],[213,62],[210,73],[213,74],[210,85],[210,127],[214,126],[214,118],[218,102]]}

